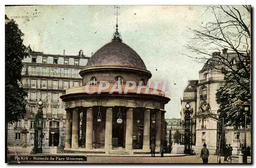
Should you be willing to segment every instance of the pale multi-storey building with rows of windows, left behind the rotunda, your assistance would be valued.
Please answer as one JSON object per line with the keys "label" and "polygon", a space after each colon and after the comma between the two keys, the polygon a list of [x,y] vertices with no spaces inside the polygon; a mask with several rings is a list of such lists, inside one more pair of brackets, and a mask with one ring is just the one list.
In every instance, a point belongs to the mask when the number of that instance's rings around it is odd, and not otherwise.
{"label": "pale multi-storey building with rows of windows, left behind the rotunda", "polygon": [[7,143],[8,146],[34,145],[34,117],[37,102],[41,99],[46,128],[43,140],[49,146],[58,146],[59,130],[65,129],[66,125],[66,103],[59,97],[66,93],[66,89],[81,86],[79,71],[89,57],[85,57],[82,51],[77,56],[65,55],[65,51],[63,55],[33,52],[30,46],[28,52],[29,57],[23,60],[20,84],[28,92],[27,114],[24,119],[8,125]]}

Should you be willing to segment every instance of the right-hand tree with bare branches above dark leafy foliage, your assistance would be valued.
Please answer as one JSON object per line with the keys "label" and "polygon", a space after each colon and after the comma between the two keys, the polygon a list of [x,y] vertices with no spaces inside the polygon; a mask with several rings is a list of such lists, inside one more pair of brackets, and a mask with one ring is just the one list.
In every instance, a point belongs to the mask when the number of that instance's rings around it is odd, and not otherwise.
{"label": "right-hand tree with bare branches above dark leafy foliage", "polygon": [[[205,26],[189,29],[194,41],[187,49],[198,57],[188,57],[206,63],[204,66],[210,69],[210,73],[224,75],[225,84],[216,94],[220,117],[225,117],[228,126],[244,126],[244,107],[241,103],[245,97],[251,102],[251,6],[210,6],[205,12],[214,16],[214,20],[208,21]],[[209,51],[218,52],[209,54]],[[233,58],[236,58],[235,63]],[[247,116],[249,125],[250,110]]]}

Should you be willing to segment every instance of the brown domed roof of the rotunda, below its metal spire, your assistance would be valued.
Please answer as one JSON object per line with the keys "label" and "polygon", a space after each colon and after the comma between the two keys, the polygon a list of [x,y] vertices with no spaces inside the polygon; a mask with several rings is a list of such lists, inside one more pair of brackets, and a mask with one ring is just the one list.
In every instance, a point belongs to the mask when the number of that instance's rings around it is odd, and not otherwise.
{"label": "brown domed roof of the rotunda, below its metal spire", "polygon": [[143,60],[130,46],[115,40],[105,44],[94,53],[84,69],[102,66],[131,67],[146,70]]}

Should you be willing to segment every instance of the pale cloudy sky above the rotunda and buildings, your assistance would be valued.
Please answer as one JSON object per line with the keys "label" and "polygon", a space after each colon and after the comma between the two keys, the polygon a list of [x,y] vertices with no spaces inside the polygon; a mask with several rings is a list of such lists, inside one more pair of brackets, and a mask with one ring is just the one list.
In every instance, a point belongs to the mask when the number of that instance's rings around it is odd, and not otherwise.
{"label": "pale cloudy sky above the rotunda and buildings", "polygon": [[[114,6],[21,6],[5,7],[24,35],[24,44],[45,54],[91,57],[115,32]],[[184,56],[195,56],[186,45],[193,44],[188,29],[214,20],[204,6],[120,6],[118,29],[123,42],[132,47],[151,80],[168,83],[170,101],[165,118],[180,118],[183,90],[188,80],[198,80],[202,63]],[[212,51],[210,51],[212,52]],[[157,70],[156,70],[157,69]]]}

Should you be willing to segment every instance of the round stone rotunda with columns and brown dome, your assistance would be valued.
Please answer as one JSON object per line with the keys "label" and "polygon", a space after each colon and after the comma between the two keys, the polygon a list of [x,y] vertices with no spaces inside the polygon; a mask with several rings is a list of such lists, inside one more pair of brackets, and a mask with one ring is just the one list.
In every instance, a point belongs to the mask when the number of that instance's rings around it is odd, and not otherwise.
{"label": "round stone rotunda with columns and brown dome", "polygon": [[164,143],[169,98],[148,87],[141,57],[116,30],[80,71],[82,86],[66,90],[65,150],[69,153],[141,154]]}

